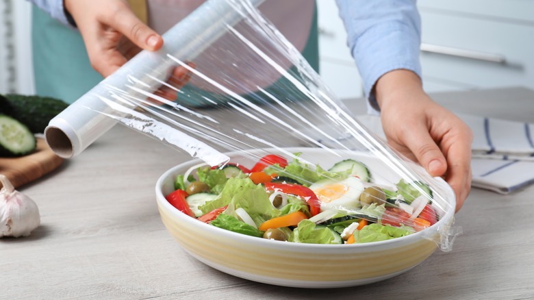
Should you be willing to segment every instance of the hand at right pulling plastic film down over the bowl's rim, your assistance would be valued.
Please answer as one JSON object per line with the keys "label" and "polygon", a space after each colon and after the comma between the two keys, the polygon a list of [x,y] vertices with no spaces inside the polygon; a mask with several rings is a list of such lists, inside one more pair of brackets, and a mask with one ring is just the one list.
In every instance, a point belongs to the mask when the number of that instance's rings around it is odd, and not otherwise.
{"label": "hand at right pulling plastic film down over the bowl's rim", "polygon": [[458,211],[471,188],[471,129],[432,101],[411,71],[386,73],[375,91],[388,143],[430,175],[444,177],[455,191]]}

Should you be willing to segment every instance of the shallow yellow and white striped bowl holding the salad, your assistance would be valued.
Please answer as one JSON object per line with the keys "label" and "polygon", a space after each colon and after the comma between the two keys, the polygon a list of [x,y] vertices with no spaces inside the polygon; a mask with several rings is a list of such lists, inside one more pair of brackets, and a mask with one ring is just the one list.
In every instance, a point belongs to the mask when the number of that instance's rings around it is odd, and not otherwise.
{"label": "shallow yellow and white striped bowl holding the salad", "polygon": [[[368,165],[372,173],[379,170],[381,162],[364,153],[325,155],[325,150],[309,148],[286,149],[290,153],[301,152],[301,158],[329,167],[344,158],[355,158]],[[280,153],[270,151],[270,153]],[[248,155],[248,154],[247,154]],[[349,156],[350,155],[350,156]],[[231,162],[252,166],[251,158],[240,153],[229,153]],[[260,155],[261,156],[261,155]],[[174,190],[175,178],[185,173],[190,166],[199,164],[194,160],[168,170],[156,184],[157,206],[162,221],[183,249],[194,258],[225,273],[267,284],[303,288],[334,288],[358,286],[378,282],[413,268],[429,257],[440,244],[440,231],[453,221],[455,196],[448,185],[436,179],[444,187],[446,203],[435,203],[446,208],[440,221],[422,232],[403,238],[358,245],[313,245],[293,242],[278,242],[229,232],[197,221],[170,205],[164,195]],[[398,182],[391,178],[390,183]]]}

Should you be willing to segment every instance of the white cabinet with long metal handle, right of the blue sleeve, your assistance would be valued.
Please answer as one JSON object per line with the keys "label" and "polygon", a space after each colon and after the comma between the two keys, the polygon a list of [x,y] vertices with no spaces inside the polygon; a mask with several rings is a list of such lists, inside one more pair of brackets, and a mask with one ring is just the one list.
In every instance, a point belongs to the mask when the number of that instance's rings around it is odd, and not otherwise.
{"label": "white cabinet with long metal handle, right of the blue sleeve", "polygon": [[534,88],[534,1],[420,0],[427,91]]}

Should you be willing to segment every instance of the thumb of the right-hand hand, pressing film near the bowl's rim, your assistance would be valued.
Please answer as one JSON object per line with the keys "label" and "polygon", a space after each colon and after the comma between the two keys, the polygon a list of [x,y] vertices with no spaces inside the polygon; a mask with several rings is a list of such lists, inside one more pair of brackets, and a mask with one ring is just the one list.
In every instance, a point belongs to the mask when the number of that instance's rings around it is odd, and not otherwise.
{"label": "thumb of the right-hand hand, pressing film near the bowl's rim", "polygon": [[442,176],[447,171],[447,162],[440,147],[438,147],[426,130],[412,130],[413,135],[405,140],[405,145],[416,156],[418,162],[432,176]]}

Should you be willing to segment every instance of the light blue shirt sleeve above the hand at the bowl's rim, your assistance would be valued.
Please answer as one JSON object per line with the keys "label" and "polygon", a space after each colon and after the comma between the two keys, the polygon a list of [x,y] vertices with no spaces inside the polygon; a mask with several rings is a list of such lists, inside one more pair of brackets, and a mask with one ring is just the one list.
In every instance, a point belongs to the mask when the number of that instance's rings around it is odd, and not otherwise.
{"label": "light blue shirt sleeve above the hand at the bowl's rim", "polygon": [[336,0],[369,99],[368,112],[379,107],[372,88],[387,72],[413,71],[421,77],[421,19],[416,0]]}

